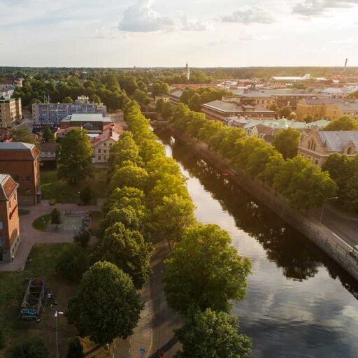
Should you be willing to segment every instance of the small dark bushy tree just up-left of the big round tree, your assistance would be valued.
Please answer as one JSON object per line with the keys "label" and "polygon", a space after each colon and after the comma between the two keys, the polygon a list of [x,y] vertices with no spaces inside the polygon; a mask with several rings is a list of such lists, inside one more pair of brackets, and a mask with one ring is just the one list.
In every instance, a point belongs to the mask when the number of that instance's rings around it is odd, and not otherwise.
{"label": "small dark bushy tree just up-left of the big round tree", "polygon": [[70,243],[62,249],[57,259],[56,272],[70,282],[79,282],[87,271],[88,259],[85,250],[77,243]]}

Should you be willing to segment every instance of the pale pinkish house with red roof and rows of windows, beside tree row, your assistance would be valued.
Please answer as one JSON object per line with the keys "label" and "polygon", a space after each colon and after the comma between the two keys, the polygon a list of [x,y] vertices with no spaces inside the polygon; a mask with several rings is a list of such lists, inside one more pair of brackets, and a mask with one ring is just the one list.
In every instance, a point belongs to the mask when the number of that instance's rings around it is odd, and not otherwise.
{"label": "pale pinkish house with red roof and rows of windows, beside tree row", "polygon": [[103,134],[93,138],[91,143],[93,147],[92,162],[94,164],[106,165],[110,155],[110,148],[120,139],[123,128],[118,124],[113,124],[110,128],[106,129]]}

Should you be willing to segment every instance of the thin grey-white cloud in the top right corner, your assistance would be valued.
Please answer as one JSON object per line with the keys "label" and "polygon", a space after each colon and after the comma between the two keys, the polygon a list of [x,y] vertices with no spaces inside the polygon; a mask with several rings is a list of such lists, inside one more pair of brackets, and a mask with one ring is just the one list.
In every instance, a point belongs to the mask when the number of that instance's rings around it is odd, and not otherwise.
{"label": "thin grey-white cloud in the top right corner", "polygon": [[355,5],[358,5],[358,0],[305,0],[303,3],[297,3],[292,8],[292,13],[306,17],[320,16],[327,10],[351,8]]}

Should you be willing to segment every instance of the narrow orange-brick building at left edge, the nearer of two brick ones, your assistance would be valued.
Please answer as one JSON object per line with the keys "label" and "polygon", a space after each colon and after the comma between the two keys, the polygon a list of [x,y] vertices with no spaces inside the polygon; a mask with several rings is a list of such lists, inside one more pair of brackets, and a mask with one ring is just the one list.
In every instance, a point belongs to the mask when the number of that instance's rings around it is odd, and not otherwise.
{"label": "narrow orange-brick building at left edge, the nearer of two brick ones", "polygon": [[0,174],[0,262],[10,262],[20,243],[17,187],[8,174]]}

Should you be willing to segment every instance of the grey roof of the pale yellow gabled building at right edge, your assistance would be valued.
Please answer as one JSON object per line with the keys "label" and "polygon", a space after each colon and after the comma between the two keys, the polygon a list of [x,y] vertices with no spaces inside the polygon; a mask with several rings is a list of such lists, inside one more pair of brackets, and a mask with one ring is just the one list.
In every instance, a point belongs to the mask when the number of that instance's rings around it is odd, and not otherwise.
{"label": "grey roof of the pale yellow gabled building at right edge", "polygon": [[358,149],[358,131],[318,131],[318,136],[328,152],[343,152],[348,143]]}

